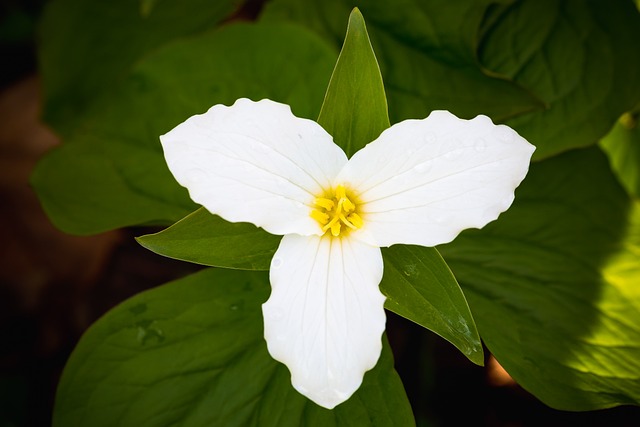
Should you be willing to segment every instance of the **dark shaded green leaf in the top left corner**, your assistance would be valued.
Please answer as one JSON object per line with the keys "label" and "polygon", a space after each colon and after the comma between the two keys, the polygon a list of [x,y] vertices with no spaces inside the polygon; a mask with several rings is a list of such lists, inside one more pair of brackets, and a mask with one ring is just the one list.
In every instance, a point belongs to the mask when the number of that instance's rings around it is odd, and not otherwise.
{"label": "dark shaded green leaf in the top left corner", "polygon": [[239,0],[55,0],[47,3],[39,60],[44,116],[58,131],[76,125],[144,55],[216,26]]}

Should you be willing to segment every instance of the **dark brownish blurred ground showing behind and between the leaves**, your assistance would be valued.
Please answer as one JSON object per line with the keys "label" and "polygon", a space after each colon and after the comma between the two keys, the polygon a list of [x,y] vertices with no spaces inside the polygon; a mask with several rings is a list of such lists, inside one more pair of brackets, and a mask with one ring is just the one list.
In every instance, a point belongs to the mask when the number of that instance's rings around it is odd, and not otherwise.
{"label": "dark brownish blurred ground showing behind and between the leaves", "polygon": [[[0,3],[0,427],[50,425],[58,379],[87,327],[126,298],[198,268],[140,247],[134,236],[149,229],[74,237],[43,213],[29,175],[60,143],[39,120],[36,48],[44,3]],[[249,1],[233,19],[252,19],[261,5]],[[419,425],[640,425],[635,407],[548,408],[490,355],[477,367],[439,337],[389,316],[396,367]]]}

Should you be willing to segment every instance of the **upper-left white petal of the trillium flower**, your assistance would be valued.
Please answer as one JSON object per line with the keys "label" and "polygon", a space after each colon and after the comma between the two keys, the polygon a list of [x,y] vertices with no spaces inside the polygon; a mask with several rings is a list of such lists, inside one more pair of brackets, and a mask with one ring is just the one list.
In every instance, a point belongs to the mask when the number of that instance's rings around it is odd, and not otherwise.
{"label": "upper-left white petal of the trillium flower", "polygon": [[215,105],[160,137],[169,169],[191,198],[231,222],[272,234],[320,234],[309,216],[347,161],[319,124],[288,105]]}

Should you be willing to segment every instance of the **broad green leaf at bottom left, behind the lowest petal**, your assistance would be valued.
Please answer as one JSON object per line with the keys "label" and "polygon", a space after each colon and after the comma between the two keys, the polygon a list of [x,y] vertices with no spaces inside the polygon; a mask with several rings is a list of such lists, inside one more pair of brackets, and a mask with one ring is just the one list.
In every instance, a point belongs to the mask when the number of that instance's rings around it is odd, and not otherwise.
{"label": "broad green leaf at bottom left, behind the lowest petal", "polygon": [[98,320],[65,367],[54,426],[410,426],[384,340],[333,411],[298,394],[267,353],[266,274],[208,269],[137,295]]}

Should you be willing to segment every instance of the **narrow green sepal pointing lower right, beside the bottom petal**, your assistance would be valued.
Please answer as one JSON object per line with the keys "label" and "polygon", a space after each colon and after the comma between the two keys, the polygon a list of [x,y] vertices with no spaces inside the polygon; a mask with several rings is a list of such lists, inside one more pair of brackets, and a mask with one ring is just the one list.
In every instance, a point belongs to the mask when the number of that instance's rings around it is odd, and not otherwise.
{"label": "narrow green sepal pointing lower right, beside the bottom petal", "polygon": [[385,307],[435,332],[477,365],[484,364],[480,336],[467,300],[435,248],[383,248]]}

